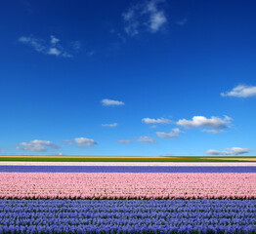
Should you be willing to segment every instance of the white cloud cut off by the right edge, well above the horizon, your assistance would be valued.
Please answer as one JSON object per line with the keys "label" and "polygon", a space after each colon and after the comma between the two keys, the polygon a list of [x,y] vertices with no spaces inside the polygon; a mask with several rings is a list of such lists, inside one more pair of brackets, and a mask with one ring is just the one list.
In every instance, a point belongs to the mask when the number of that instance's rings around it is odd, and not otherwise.
{"label": "white cloud cut off by the right edge, well above the horizon", "polygon": [[239,85],[232,91],[221,93],[222,97],[248,98],[256,96],[256,86]]}

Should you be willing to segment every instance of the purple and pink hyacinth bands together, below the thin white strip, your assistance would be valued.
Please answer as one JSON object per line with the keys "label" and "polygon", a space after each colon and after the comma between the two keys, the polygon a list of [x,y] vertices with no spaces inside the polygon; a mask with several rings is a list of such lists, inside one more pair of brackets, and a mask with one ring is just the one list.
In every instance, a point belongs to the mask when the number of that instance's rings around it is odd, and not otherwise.
{"label": "purple and pink hyacinth bands together, below the thin white strip", "polygon": [[0,166],[0,233],[256,233],[256,167]]}

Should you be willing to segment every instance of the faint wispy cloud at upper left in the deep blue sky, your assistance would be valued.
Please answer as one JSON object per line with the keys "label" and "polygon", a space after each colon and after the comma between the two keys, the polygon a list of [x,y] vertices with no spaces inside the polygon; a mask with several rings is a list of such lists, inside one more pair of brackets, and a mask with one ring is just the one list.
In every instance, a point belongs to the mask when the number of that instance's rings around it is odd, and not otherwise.
{"label": "faint wispy cloud at upper left in the deep blue sky", "polygon": [[33,36],[21,36],[19,41],[22,44],[26,44],[32,47],[36,52],[44,55],[71,58],[72,55],[64,50],[64,47],[60,43],[60,39],[51,35],[50,40],[38,39]]}

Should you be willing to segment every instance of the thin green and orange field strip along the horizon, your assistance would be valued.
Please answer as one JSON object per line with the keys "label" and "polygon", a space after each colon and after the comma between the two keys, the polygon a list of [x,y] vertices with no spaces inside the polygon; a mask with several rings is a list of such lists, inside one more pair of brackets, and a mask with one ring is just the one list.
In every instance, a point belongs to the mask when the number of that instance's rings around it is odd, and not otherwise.
{"label": "thin green and orange field strip along the horizon", "polygon": [[[85,157],[77,157],[71,158],[72,156],[64,157],[64,156],[31,156],[29,158],[25,158],[22,156],[12,156],[12,157],[2,157],[0,156],[0,161],[26,161],[26,162],[255,162],[256,157],[140,157],[140,158],[122,158],[122,157],[101,157],[97,156],[94,158],[85,158]],[[218,159],[217,159],[218,158]],[[221,159],[220,159],[221,158]]]}

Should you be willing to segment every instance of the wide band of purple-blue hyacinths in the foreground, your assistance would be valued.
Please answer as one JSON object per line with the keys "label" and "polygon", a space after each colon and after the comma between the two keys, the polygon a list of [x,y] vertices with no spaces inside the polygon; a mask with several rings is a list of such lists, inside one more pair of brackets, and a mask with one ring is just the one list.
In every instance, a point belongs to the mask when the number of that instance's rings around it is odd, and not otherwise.
{"label": "wide band of purple-blue hyacinths in the foreground", "polygon": [[0,200],[0,233],[256,233],[255,200]]}

